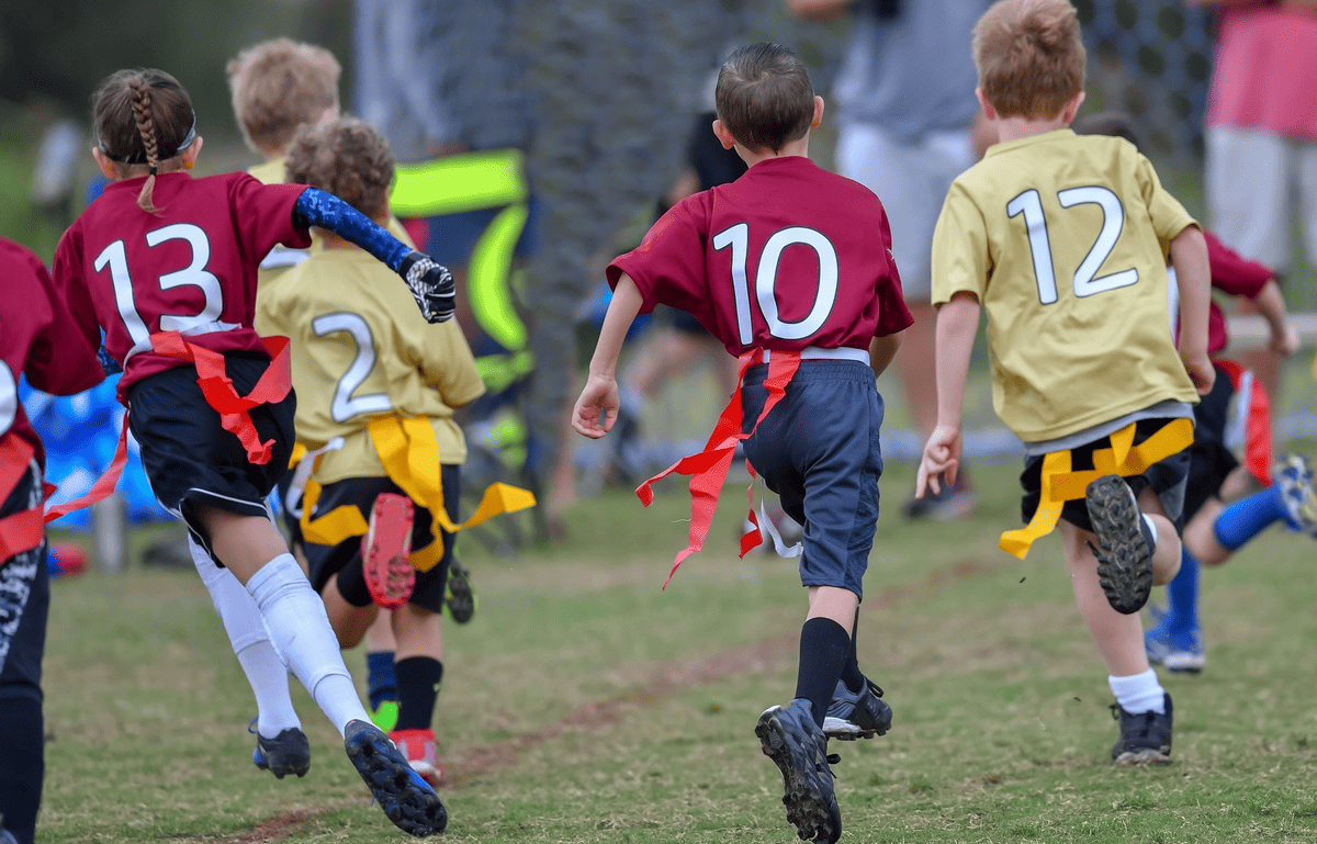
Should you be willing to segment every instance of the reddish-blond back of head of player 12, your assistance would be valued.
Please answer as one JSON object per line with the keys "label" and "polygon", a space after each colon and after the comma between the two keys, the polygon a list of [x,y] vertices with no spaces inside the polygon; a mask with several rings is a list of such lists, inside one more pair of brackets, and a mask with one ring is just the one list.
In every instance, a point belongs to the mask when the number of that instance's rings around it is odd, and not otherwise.
{"label": "reddish-blond back of head of player 12", "polygon": [[1084,90],[1069,0],[998,0],[975,25],[973,54],[979,87],[1004,117],[1054,117]]}

